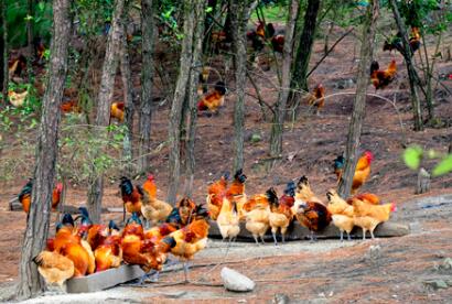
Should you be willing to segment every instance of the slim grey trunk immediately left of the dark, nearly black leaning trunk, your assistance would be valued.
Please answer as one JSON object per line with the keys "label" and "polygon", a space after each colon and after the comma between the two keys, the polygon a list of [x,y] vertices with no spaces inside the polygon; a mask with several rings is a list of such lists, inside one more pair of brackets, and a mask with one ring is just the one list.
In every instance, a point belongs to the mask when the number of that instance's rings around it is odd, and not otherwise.
{"label": "slim grey trunk immediately left of the dark, nearly black leaning trunk", "polygon": [[273,124],[270,134],[270,156],[279,158],[282,152],[282,132],[284,127],[286,105],[289,98],[290,86],[290,67],[293,58],[293,34],[295,30],[297,19],[299,15],[300,1],[292,0],[289,8],[289,18],[286,25],[282,74],[281,74],[281,90],[279,91],[278,101],[276,104]]}

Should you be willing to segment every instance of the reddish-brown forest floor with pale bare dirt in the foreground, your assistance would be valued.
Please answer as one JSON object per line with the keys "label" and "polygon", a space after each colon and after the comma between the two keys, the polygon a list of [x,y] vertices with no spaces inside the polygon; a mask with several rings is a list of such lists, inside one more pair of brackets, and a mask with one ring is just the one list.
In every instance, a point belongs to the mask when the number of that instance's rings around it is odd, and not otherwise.
{"label": "reddish-brown forest floor with pale bare dirt in the foreground", "polygon": [[[336,32],[334,37],[338,37]],[[310,87],[322,83],[326,95],[340,94],[327,98],[320,116],[308,113],[303,106],[302,113],[288,123],[283,137],[283,158],[267,174],[265,165],[271,124],[262,119],[257,100],[250,96],[246,100],[245,167],[248,176],[247,194],[255,194],[276,186],[281,193],[289,180],[308,175],[314,192],[320,196],[336,180],[332,173],[332,161],[345,149],[346,134],[355,90],[357,61],[354,53],[356,37],[348,36],[320,65],[310,79]],[[451,44],[451,41],[445,43]],[[355,51],[354,51],[355,50]],[[323,55],[322,41],[316,42],[312,63]],[[356,55],[357,56],[357,55]],[[435,113],[444,126],[428,128],[422,132],[411,131],[412,115],[409,100],[408,79],[400,54],[378,51],[376,57],[385,67],[395,57],[399,66],[397,79],[388,88],[378,91],[395,106],[376,97],[368,97],[366,118],[363,127],[362,149],[375,154],[372,177],[363,187],[378,194],[385,202],[395,202],[399,210],[390,219],[410,224],[411,234],[400,238],[341,243],[338,240],[320,240],[316,243],[295,241],[276,248],[272,243],[257,247],[254,243],[234,243],[227,256],[225,246],[218,241],[195,257],[193,264],[208,264],[193,268],[190,278],[193,281],[219,283],[223,265],[230,267],[256,280],[254,292],[238,294],[215,286],[179,285],[168,287],[118,286],[108,291],[82,295],[46,295],[30,303],[100,303],[105,300],[114,303],[136,302],[179,302],[181,300],[211,302],[262,302],[270,301],[275,294],[287,294],[293,301],[312,303],[450,303],[452,287],[434,290],[427,280],[451,281],[452,273],[437,270],[445,258],[452,258],[452,199],[441,206],[429,206],[419,200],[426,196],[452,194],[452,175],[435,177],[428,195],[415,196],[417,173],[406,167],[400,159],[403,146],[417,143],[424,149],[434,149],[445,153],[452,141],[452,96],[443,87],[435,88]],[[218,59],[219,61],[219,59]],[[419,62],[418,56],[416,61]],[[136,66],[134,70],[140,70]],[[452,74],[452,62],[442,59],[438,63],[439,74]],[[230,72],[229,72],[230,74]],[[263,77],[256,77],[265,100],[272,104],[277,97],[275,68],[259,72]],[[227,78],[229,80],[229,78]],[[452,90],[452,80],[442,82]],[[228,83],[230,93],[226,97],[226,107],[218,116],[200,117],[196,141],[196,174],[194,199],[203,202],[206,186],[233,161],[232,115],[234,110],[234,83]],[[374,88],[369,87],[369,93]],[[249,93],[255,94],[249,85]],[[120,96],[120,90],[117,93]],[[397,108],[397,111],[395,110]],[[155,109],[152,121],[153,145],[165,141],[168,134],[168,102]],[[439,123],[440,124],[440,123]],[[252,134],[259,134],[261,141],[251,142]],[[8,153],[8,151],[3,151]],[[152,172],[157,176],[159,192],[164,197],[166,191],[168,148],[163,146],[151,160]],[[434,161],[426,161],[431,170]],[[119,176],[119,175],[118,175]],[[4,183],[0,188],[0,283],[8,290],[18,279],[18,262],[21,239],[25,227],[22,211],[9,211],[8,202],[20,192],[26,178],[14,183]],[[82,205],[86,189],[71,187],[67,204]],[[416,200],[416,202],[415,202]],[[105,206],[121,207],[117,184],[111,184],[104,196]],[[105,219],[121,220],[121,214],[106,214]],[[54,216],[53,216],[54,218]],[[51,229],[54,229],[52,224]],[[370,246],[379,246],[376,258],[368,258]],[[218,263],[217,267],[212,265]],[[219,264],[220,263],[220,264]],[[169,272],[161,275],[163,282],[176,282],[182,272]]]}

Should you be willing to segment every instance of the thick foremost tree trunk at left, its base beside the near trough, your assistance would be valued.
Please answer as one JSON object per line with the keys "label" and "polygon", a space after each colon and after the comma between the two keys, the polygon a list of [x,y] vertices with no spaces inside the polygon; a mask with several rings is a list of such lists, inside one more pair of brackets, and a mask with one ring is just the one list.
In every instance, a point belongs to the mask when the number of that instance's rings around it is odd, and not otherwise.
{"label": "thick foremost tree trunk at left, its base beside the near trough", "polygon": [[55,0],[53,2],[54,32],[49,66],[50,77],[43,97],[32,203],[19,264],[18,298],[34,296],[44,289],[44,281],[41,279],[32,259],[44,248],[49,234],[57,158],[60,105],[67,72],[67,50],[71,34],[69,8],[69,0]]}

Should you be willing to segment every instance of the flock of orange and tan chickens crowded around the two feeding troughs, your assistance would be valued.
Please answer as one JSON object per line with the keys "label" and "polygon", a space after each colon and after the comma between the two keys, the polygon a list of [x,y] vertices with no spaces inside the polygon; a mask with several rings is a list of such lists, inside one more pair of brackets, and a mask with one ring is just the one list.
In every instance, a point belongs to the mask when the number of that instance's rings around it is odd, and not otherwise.
{"label": "flock of orange and tan chickens crowded around the two feeding troughs", "polygon": [[[184,197],[174,207],[157,198],[157,185],[153,175],[149,175],[142,185],[133,185],[127,177],[120,178],[120,191],[125,209],[131,214],[122,230],[110,220],[107,225],[94,224],[85,207],[79,207],[79,215],[73,218],[65,214],[56,225],[55,237],[47,240],[46,249],[33,261],[47,284],[62,285],[73,276],[88,275],[94,272],[117,268],[122,263],[138,264],[147,273],[144,279],[159,272],[169,260],[169,254],[184,263],[187,281],[187,261],[207,245],[209,227],[216,221],[224,240],[234,241],[240,232],[240,221],[252,235],[257,245],[259,239],[271,230],[275,245],[277,234],[284,237],[291,232],[298,221],[311,231],[311,241],[315,234],[330,224],[344,231],[348,239],[352,229],[357,226],[374,238],[378,224],[389,219],[395,210],[394,204],[380,204],[377,195],[356,194],[370,173],[373,154],[366,151],[358,160],[352,193],[348,199],[341,198],[334,189],[326,193],[327,203],[320,199],[311,189],[308,177],[298,183],[287,184],[284,193],[278,197],[275,188],[263,194],[247,197],[245,184],[247,176],[238,170],[228,185],[229,174],[211,184],[207,188],[206,204],[195,204]],[[337,178],[342,176],[344,158],[334,160]],[[32,181],[19,195],[23,209],[30,209]],[[62,186],[57,184],[53,193],[53,208],[60,202]],[[143,220],[146,221],[143,225]]]}

